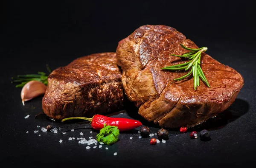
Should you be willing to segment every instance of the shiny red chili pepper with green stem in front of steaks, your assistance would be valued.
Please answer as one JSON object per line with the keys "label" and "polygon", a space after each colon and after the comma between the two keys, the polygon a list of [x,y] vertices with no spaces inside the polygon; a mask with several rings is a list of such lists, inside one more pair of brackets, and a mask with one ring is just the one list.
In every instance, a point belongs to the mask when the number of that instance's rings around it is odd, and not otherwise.
{"label": "shiny red chili pepper with green stem in front of steaks", "polygon": [[129,118],[111,118],[105,115],[93,115],[92,118],[85,118],[85,117],[70,117],[64,118],[61,122],[65,120],[72,120],[72,119],[82,119],[90,121],[91,126],[93,129],[100,130],[104,127],[104,124],[109,126],[117,126],[119,131],[127,131],[130,129],[135,129],[139,126],[142,126],[142,123],[138,120],[132,120]]}

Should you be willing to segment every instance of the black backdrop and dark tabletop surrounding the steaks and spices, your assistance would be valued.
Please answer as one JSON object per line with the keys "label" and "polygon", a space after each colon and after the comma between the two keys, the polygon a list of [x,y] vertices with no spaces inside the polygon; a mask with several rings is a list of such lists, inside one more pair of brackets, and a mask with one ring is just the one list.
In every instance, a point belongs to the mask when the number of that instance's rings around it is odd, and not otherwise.
{"label": "black backdrop and dark tabletop surrounding the steaks and spices", "polygon": [[[255,163],[256,12],[253,1],[2,1],[0,11],[1,164],[236,167]],[[69,143],[67,139],[60,144],[61,134],[38,137],[33,133],[37,125],[53,124],[67,130],[71,127],[46,118],[32,118],[42,111],[41,97],[22,106],[21,89],[11,84],[12,76],[46,71],[46,64],[53,70],[92,53],[114,52],[119,40],[146,24],[176,28],[199,47],[207,47],[210,56],[244,77],[244,87],[222,119],[202,127],[212,131],[211,141],[191,141],[189,132],[179,134],[177,130],[170,130],[172,137],[166,144],[152,147],[148,145],[149,139],[139,141],[136,132],[128,132],[120,135],[121,140],[111,146],[108,153],[98,149],[88,152],[85,146]],[[136,113],[131,105],[128,107],[127,111]],[[25,120],[27,114],[31,117]],[[141,119],[126,113],[117,116]],[[81,128],[76,123],[70,126]],[[155,126],[150,128],[157,130]],[[79,132],[75,132],[76,137]],[[84,134],[89,133],[84,131]],[[129,139],[131,136],[134,141]],[[118,155],[113,157],[115,151]]]}

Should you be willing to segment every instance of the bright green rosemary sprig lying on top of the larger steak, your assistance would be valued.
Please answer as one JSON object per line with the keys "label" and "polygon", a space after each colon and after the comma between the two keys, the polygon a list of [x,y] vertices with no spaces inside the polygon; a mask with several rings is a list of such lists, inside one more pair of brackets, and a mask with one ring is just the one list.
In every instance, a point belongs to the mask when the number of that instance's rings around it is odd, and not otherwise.
{"label": "bright green rosemary sprig lying on top of the larger steak", "polygon": [[206,51],[208,48],[207,47],[187,48],[182,44],[180,44],[180,45],[181,45],[181,47],[185,48],[186,50],[190,50],[190,51],[187,53],[184,53],[183,55],[170,54],[170,56],[178,56],[178,57],[182,57],[182,58],[188,58],[190,61],[183,63],[183,64],[177,64],[177,65],[172,65],[169,67],[163,67],[161,69],[163,69],[163,70],[189,70],[189,68],[191,68],[189,73],[187,73],[184,76],[181,76],[180,78],[176,78],[174,80],[180,81],[180,80],[188,77],[192,73],[194,76],[194,89],[195,90],[199,86],[199,77],[207,85],[207,87],[210,87],[206,77],[204,76],[203,70],[200,67],[201,53]]}

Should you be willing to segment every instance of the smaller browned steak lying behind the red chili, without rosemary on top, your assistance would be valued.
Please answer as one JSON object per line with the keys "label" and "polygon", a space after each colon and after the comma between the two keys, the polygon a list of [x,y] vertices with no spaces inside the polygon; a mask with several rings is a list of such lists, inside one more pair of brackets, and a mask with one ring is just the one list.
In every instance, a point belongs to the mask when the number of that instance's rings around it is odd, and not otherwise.
{"label": "smaller browned steak lying behind the red chili, without rosemary on top", "polygon": [[56,120],[91,117],[122,109],[123,95],[116,53],[96,53],[55,69],[48,77],[42,106]]}

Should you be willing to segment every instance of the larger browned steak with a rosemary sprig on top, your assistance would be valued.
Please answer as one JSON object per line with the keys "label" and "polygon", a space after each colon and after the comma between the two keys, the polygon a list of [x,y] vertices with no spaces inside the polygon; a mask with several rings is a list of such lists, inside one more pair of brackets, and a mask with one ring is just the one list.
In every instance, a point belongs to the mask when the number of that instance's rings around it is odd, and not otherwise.
{"label": "larger browned steak with a rosemary sprig on top", "polygon": [[188,52],[179,43],[198,48],[175,28],[144,25],[122,39],[116,49],[128,99],[139,107],[143,118],[165,128],[192,127],[223,112],[244,84],[236,70],[206,53],[201,55],[201,68],[210,88],[200,81],[200,86],[194,90],[193,78],[174,81],[188,71],[160,68],[186,62],[186,59],[169,56]]}

